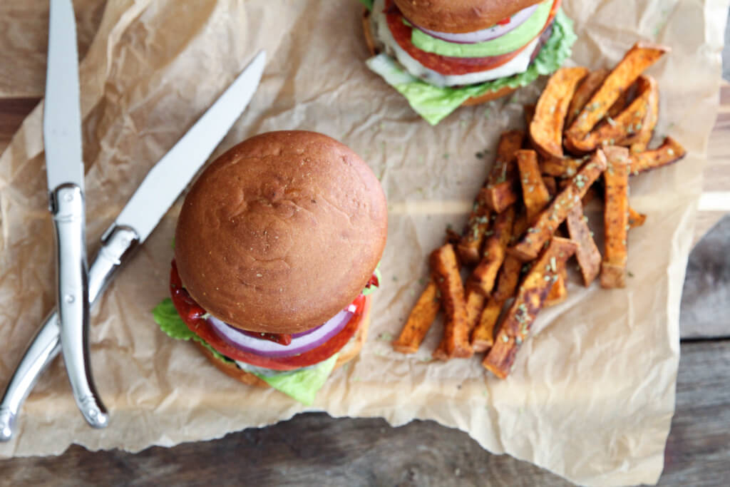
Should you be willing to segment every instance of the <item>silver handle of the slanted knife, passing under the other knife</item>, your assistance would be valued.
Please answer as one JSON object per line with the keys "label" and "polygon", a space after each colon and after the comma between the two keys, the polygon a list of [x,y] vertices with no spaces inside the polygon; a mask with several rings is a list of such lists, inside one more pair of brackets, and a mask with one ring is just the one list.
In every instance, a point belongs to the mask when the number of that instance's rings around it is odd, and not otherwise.
{"label": "silver handle of the slanted knife, passing under the other knife", "polygon": [[[88,274],[91,305],[101,296],[116,271],[126,262],[139,244],[139,236],[127,226],[112,225],[101,237],[101,248]],[[61,329],[58,313],[53,310],[42,323],[15,369],[0,401],[0,441],[15,434],[15,419],[20,407],[53,358],[61,352]]]}

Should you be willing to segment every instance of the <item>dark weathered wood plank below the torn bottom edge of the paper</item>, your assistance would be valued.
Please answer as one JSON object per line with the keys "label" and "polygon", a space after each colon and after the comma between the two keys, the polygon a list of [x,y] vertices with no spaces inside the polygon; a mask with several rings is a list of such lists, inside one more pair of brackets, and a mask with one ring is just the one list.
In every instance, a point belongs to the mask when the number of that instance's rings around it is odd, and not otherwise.
{"label": "dark weathered wood plank below the torn bottom edge of the paper", "polygon": [[[682,345],[677,413],[662,486],[721,485],[730,478],[730,341]],[[464,432],[432,421],[391,428],[377,418],[298,415],[220,440],[133,455],[72,446],[61,456],[0,461],[0,484],[128,486],[565,486],[510,456],[487,453]]]}

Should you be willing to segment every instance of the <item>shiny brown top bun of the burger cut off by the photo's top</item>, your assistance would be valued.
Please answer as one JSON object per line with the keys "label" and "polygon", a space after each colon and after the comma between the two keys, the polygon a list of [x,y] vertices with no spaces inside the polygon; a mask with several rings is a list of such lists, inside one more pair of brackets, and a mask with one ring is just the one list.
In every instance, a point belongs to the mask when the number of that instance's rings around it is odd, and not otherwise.
{"label": "shiny brown top bun of the burger cut off by the photo's top", "polygon": [[488,28],[542,0],[394,0],[405,18],[438,32],[464,34]]}

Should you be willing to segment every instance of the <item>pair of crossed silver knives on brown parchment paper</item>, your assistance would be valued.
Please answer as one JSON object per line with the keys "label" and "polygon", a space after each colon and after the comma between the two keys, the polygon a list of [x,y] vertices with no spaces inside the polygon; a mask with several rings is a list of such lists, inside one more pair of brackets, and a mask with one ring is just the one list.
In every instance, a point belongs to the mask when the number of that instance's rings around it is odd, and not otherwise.
{"label": "pair of crossed silver knives on brown parchment paper", "polygon": [[85,202],[78,61],[71,0],[50,1],[43,132],[50,210],[57,248],[57,309],[23,354],[0,401],[0,441],[10,440],[20,407],[50,361],[63,352],[74,399],[86,421],[108,423],[88,360],[89,306],[147,239],[253,97],[264,72],[261,51],[191,129],[158,161],[112,225],[86,267]]}

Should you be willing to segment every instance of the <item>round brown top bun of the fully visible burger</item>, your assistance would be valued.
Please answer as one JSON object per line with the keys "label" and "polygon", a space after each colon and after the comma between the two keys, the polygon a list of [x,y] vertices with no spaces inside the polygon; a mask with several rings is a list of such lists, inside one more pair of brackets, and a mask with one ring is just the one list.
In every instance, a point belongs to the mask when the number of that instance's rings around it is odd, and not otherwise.
{"label": "round brown top bun of the fully visible burger", "polygon": [[175,231],[177,270],[226,323],[297,333],[361,293],[387,226],[383,189],[356,153],[315,132],[269,132],[193,184]]}

